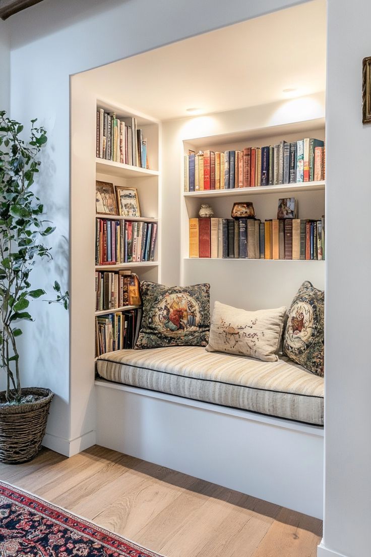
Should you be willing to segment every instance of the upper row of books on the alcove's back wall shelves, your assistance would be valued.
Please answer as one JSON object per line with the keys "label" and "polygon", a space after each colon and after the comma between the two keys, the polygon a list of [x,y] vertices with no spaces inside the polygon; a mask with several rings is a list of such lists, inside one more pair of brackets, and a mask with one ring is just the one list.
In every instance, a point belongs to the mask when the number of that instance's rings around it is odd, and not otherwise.
{"label": "upper row of books on the alcove's back wall shelves", "polygon": [[186,192],[313,182],[323,180],[324,175],[325,147],[319,139],[184,156]]}

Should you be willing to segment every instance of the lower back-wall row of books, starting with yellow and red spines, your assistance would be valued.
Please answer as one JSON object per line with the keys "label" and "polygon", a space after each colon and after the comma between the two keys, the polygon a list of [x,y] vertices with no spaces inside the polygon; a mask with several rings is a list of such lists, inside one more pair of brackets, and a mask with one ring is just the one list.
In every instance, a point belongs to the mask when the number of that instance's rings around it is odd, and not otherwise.
{"label": "lower back-wall row of books, starting with yellow and red spines", "polygon": [[323,260],[325,218],[190,218],[189,257]]}

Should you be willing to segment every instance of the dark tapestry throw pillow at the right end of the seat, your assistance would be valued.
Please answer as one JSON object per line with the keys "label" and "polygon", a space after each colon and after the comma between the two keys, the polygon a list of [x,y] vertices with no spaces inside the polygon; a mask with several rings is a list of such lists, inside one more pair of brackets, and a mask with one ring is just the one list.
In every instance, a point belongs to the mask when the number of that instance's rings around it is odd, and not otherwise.
{"label": "dark tapestry throw pillow at the right end of the seat", "polygon": [[283,353],[309,372],[324,375],[324,292],[303,282],[291,304]]}

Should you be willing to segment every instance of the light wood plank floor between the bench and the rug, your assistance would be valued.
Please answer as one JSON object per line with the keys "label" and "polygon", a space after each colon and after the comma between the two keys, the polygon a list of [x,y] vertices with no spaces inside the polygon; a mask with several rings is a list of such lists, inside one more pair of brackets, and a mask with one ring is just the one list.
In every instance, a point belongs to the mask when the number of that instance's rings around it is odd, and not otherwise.
{"label": "light wood plank floor between the bench and the rug", "polygon": [[321,539],[318,519],[97,446],[0,477],[166,557],[315,557]]}

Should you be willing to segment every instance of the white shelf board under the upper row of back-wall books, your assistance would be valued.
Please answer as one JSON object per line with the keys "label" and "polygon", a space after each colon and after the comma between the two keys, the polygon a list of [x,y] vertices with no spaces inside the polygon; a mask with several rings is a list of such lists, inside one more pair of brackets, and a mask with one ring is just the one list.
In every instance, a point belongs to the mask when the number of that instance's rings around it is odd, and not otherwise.
{"label": "white shelf board under the upper row of back-wall books", "polygon": [[263,185],[251,188],[232,189],[204,189],[197,192],[184,192],[184,197],[227,197],[227,196],[251,196],[267,193],[287,192],[315,192],[325,189],[324,180],[321,182],[299,182],[295,184]]}

